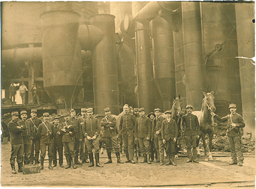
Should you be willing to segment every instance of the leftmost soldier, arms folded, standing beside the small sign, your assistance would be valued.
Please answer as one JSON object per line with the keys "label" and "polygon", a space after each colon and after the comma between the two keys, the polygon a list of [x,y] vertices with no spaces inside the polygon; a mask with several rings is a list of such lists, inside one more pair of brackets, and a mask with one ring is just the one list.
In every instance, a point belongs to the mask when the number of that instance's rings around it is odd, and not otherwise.
{"label": "leftmost soldier, arms folded, standing beside the small sign", "polygon": [[10,132],[11,138],[11,173],[16,173],[15,170],[15,158],[18,163],[19,170],[18,172],[22,172],[22,161],[23,161],[23,138],[22,132],[24,127],[18,123],[19,121],[19,112],[11,112],[12,120],[8,124],[8,129]]}

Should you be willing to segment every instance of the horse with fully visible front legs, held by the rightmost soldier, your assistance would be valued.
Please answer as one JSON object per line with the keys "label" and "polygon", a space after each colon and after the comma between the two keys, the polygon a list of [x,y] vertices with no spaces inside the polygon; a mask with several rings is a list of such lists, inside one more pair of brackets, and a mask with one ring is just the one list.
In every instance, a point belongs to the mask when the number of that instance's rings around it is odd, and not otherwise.
{"label": "horse with fully visible front legs, held by the rightmost soldier", "polygon": [[[207,94],[203,92],[203,94],[204,94],[204,99],[203,99],[201,111],[193,111],[192,114],[196,115],[199,120],[199,124],[201,128],[200,137],[203,140],[205,161],[208,161],[207,145],[205,143],[205,136],[207,134],[209,135],[209,161],[213,161],[212,138],[214,134],[214,125],[216,124],[214,124],[214,117],[212,116],[211,112],[214,112],[216,108],[214,106],[213,91]],[[199,140],[197,140],[197,145],[199,144]],[[199,153],[199,147],[197,146],[197,154],[198,153]]]}

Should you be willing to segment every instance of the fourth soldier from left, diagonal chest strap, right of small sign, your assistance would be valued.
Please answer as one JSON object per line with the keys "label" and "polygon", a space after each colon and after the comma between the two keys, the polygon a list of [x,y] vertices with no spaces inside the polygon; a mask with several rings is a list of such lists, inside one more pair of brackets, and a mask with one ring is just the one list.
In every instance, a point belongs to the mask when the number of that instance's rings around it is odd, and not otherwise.
{"label": "fourth soldier from left, diagonal chest strap, right of small sign", "polygon": [[49,169],[52,168],[52,157],[53,157],[53,138],[55,137],[55,127],[51,122],[49,122],[49,113],[44,112],[43,114],[44,122],[38,127],[37,137],[40,138],[40,149],[41,149],[41,170],[44,169],[44,158],[46,157],[46,149],[48,148],[48,158],[49,158]]}

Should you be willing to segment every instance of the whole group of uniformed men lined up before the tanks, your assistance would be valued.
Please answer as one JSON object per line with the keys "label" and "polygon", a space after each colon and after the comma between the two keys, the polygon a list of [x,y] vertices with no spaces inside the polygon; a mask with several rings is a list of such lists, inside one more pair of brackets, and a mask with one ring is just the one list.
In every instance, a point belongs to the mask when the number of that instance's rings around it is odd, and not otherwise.
{"label": "whole group of uniformed men lined up before the tanks", "polygon": [[[244,127],[241,115],[236,114],[236,104],[230,104],[230,112],[233,115],[234,127]],[[191,114],[193,107],[187,105],[187,114],[181,115],[184,121],[184,138],[187,145],[187,162],[198,163],[196,157],[196,140],[200,135],[200,125],[196,115]],[[99,123],[98,119],[93,117],[93,108],[81,108],[81,117],[76,119],[75,110],[64,113],[65,121],[59,124],[59,117],[55,116],[53,122],[49,121],[49,113],[43,113],[43,121],[37,117],[37,111],[31,110],[31,118],[27,119],[27,111],[20,111],[21,120],[19,121],[18,111],[11,113],[12,120],[8,124],[11,140],[11,157],[10,164],[12,173],[15,170],[15,158],[18,163],[18,172],[22,172],[24,165],[40,163],[41,170],[44,169],[44,158],[48,148],[49,169],[57,166],[57,153],[59,153],[59,165],[63,166],[63,146],[64,155],[67,159],[67,166],[76,169],[76,165],[81,165],[83,162],[88,163],[89,167],[94,166],[94,157],[96,159],[96,166],[102,167],[100,164],[100,131],[103,127],[102,142],[106,144],[106,152],[108,153],[108,161],[105,163],[112,163],[112,150],[117,156],[117,163],[123,163],[120,159],[121,147],[120,143],[123,140],[125,145],[126,163],[135,163],[134,161],[134,144],[139,145],[139,149],[143,154],[143,161],[151,164],[154,158],[154,150],[156,151],[155,162],[160,162],[163,165],[164,149],[168,162],[166,165],[174,165],[175,142],[178,136],[178,128],[176,121],[171,119],[171,111],[164,112],[165,116],[160,115],[160,108],[156,108],[154,113],[145,115],[144,108],[134,108],[134,114],[129,112],[128,104],[123,106],[123,114],[119,121],[119,133],[117,130],[115,116],[111,114],[110,108],[104,108],[105,117]],[[138,115],[139,112],[139,115]],[[215,114],[214,114],[215,115]],[[215,116],[221,120],[220,117]],[[237,117],[237,118],[235,118]],[[228,119],[222,118],[222,121]],[[232,117],[230,117],[232,119]],[[119,134],[119,135],[118,135]],[[118,141],[120,138],[120,142]],[[229,141],[234,141],[232,144],[232,163],[237,164],[236,149],[238,147],[238,139],[229,138]],[[84,144],[85,142],[85,144]],[[122,145],[121,145],[122,146]],[[238,146],[238,147],[237,147]],[[191,152],[192,149],[192,152]],[[39,162],[39,150],[40,162]],[[153,154],[152,154],[153,153]],[[82,162],[79,161],[80,159]],[[150,160],[151,158],[151,160]],[[238,150],[239,165],[242,165],[243,157]],[[53,166],[52,166],[53,163]]]}

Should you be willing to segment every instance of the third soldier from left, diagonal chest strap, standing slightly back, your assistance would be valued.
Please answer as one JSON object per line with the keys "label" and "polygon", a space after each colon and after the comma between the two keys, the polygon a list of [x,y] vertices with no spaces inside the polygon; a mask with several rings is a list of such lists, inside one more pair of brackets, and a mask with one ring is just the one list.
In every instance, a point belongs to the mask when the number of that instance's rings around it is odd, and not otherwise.
{"label": "third soldier from left, diagonal chest strap, standing slightly back", "polygon": [[40,163],[39,162],[39,152],[40,152],[40,138],[36,136],[36,132],[38,132],[38,127],[42,123],[42,120],[40,120],[38,117],[38,111],[35,109],[31,109],[30,113],[31,117],[28,119],[32,126],[32,148],[31,148],[31,156],[30,156],[30,164],[33,164],[35,161],[35,164]]}

